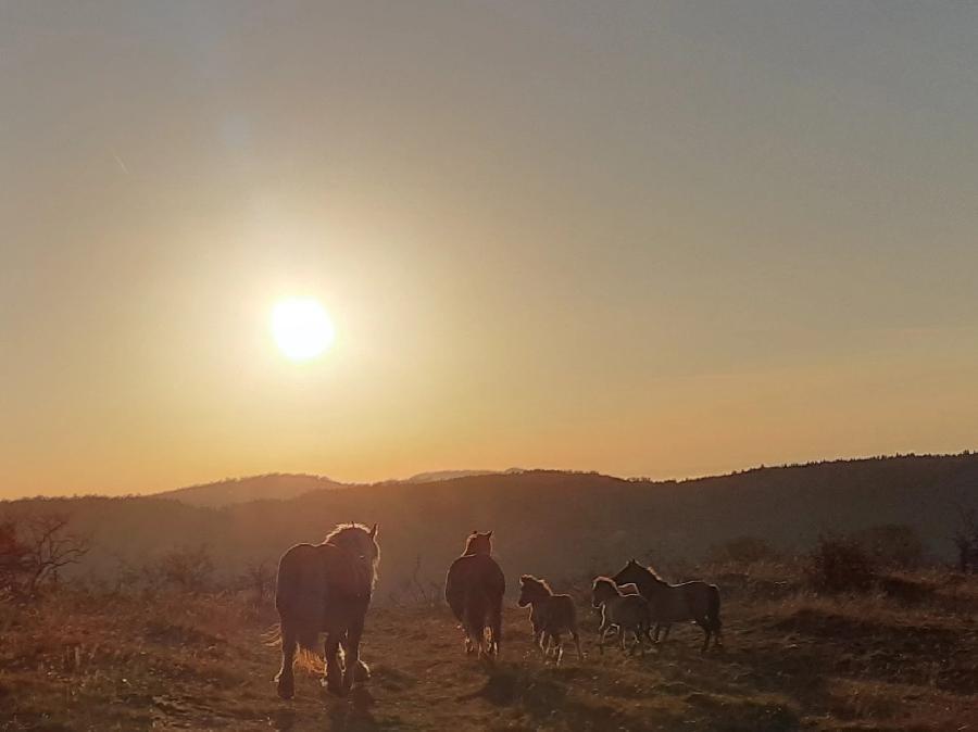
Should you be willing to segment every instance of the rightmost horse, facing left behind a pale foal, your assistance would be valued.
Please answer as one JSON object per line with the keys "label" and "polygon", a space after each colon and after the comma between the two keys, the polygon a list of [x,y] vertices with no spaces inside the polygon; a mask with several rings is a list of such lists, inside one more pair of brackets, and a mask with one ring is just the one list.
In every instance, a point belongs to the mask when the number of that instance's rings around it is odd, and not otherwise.
{"label": "rightmost horse, facing left behind a pale foal", "polygon": [[660,626],[665,626],[665,635],[669,634],[669,626],[674,622],[694,621],[703,629],[702,651],[713,645],[723,646],[723,623],[720,622],[719,589],[700,580],[669,584],[651,567],[642,567],[635,559],[612,578],[615,582],[634,582],[642,597],[649,601],[652,618],[655,620],[655,640],[659,641]]}

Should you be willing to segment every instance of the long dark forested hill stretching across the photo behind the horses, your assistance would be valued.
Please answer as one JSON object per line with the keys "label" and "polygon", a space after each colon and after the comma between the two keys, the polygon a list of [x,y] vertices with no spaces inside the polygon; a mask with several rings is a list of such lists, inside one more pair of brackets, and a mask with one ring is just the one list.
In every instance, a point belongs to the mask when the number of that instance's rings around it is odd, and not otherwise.
{"label": "long dark forested hill stretching across the photo behind the horses", "polygon": [[174,501],[180,496],[174,492],[170,498],[34,498],[5,502],[0,512],[71,513],[76,529],[93,540],[85,570],[206,544],[217,570],[234,573],[249,561],[274,563],[293,543],[319,541],[337,522],[377,521],[384,595],[410,579],[418,561],[421,581],[440,581],[476,528],[494,529],[511,583],[521,572],[559,579],[612,571],[631,556],[666,567],[694,561],[740,535],[805,550],[820,532],[882,523],[913,527],[932,555],[950,559],[960,507],[978,506],[978,455],[840,460],[681,482],[529,470],[328,485],[222,507]]}

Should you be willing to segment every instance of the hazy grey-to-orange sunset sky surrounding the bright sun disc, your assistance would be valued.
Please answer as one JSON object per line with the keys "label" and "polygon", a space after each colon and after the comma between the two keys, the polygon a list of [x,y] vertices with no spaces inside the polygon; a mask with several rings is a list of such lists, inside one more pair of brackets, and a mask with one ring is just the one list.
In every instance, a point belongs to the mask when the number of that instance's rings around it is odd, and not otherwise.
{"label": "hazy grey-to-orange sunset sky surrounding the bright sun disc", "polygon": [[[978,447],[978,5],[0,0],[0,495]],[[274,304],[337,340],[296,364]]]}

